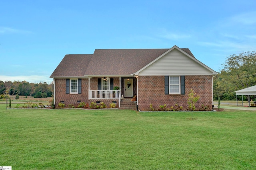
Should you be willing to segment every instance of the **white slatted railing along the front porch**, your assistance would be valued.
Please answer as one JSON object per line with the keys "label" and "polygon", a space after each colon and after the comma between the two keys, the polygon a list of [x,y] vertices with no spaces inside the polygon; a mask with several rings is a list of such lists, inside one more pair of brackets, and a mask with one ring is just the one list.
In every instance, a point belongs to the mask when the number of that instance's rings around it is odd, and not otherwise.
{"label": "white slatted railing along the front porch", "polygon": [[118,99],[120,90],[90,90],[90,99]]}

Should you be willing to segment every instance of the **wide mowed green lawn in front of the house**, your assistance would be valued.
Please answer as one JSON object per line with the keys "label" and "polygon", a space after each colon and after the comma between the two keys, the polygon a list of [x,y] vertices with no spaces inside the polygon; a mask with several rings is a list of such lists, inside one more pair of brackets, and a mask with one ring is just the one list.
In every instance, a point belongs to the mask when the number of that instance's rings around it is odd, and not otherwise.
{"label": "wide mowed green lawn in front of the house", "polygon": [[256,169],[256,112],[8,109],[0,166],[13,169]]}

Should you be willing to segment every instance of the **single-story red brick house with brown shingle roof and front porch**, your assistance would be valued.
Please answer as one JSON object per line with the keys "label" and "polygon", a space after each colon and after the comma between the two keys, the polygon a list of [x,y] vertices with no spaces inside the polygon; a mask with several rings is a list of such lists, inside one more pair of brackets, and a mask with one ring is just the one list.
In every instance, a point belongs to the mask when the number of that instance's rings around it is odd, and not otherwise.
{"label": "single-story red brick house with brown shingle roof and front porch", "polygon": [[[80,102],[116,103],[137,95],[137,107],[149,110],[178,104],[188,108],[191,89],[200,96],[196,107],[212,108],[213,76],[217,73],[198,61],[187,48],[96,49],[91,55],[65,55],[50,78],[54,102],[75,107]],[[120,90],[113,90],[114,87]],[[136,105],[135,104],[135,105]],[[136,107],[135,107],[136,108]]]}

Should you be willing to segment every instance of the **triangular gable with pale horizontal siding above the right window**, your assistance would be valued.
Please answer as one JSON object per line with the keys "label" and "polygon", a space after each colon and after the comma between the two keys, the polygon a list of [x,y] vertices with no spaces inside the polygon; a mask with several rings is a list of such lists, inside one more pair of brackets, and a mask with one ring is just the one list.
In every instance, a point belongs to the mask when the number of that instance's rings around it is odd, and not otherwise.
{"label": "triangular gable with pale horizontal siding above the right window", "polygon": [[214,75],[217,73],[198,61],[189,49],[180,49],[176,45],[135,73],[135,75],[167,74]]}

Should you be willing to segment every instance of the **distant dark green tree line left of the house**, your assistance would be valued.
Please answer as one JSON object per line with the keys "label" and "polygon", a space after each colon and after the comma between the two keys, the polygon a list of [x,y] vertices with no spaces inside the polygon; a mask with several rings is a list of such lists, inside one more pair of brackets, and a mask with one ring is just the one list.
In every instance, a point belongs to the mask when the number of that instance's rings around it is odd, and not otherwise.
{"label": "distant dark green tree line left of the house", "polygon": [[1,81],[0,80],[0,95],[8,90],[9,95],[19,96],[34,96],[34,98],[47,98],[53,94],[54,84],[47,84],[46,82],[29,83],[27,81]]}

